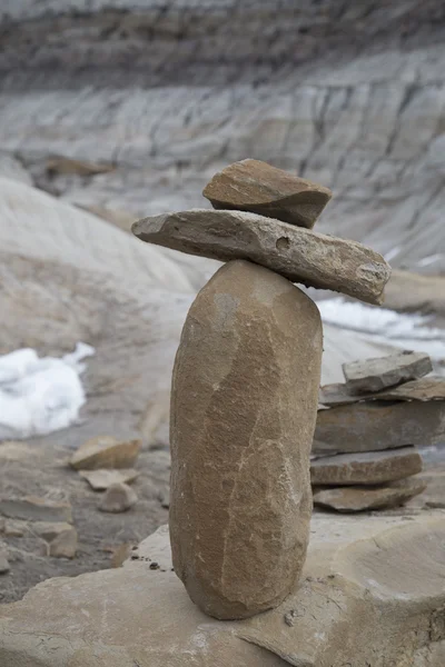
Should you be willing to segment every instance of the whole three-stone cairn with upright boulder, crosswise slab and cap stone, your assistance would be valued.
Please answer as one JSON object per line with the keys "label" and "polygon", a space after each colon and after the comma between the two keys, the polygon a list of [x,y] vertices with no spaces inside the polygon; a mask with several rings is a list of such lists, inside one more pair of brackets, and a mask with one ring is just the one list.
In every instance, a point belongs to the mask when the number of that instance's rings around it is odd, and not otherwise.
{"label": "whole three-stone cairn with upright boulder, crosswise slab and cap stone", "polygon": [[195,299],[176,356],[170,539],[190,598],[235,619],[277,606],[306,557],[323,334],[293,282],[379,303],[390,269],[360,243],[312,231],[330,191],[265,162],[229,166],[204,193],[215,210],[132,231],[228,262]]}

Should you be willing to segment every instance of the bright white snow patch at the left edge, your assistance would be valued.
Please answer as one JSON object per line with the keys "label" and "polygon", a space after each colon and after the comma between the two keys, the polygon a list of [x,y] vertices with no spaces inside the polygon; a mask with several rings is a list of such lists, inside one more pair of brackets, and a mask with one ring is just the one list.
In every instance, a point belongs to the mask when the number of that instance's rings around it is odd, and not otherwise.
{"label": "bright white snow patch at the left edge", "polygon": [[95,349],[79,342],[61,359],[30,348],[0,356],[0,440],[42,436],[76,421],[85,404],[81,359]]}

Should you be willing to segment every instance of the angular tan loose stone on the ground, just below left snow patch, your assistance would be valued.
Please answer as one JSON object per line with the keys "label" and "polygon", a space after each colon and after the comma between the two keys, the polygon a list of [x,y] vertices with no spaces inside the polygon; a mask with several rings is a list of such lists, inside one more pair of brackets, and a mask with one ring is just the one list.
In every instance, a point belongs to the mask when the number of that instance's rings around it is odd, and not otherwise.
{"label": "angular tan loose stone on the ground, just below left snow patch", "polygon": [[87,440],[70,460],[76,470],[99,468],[131,468],[142,442],[140,440],[119,441],[111,436],[99,436]]}

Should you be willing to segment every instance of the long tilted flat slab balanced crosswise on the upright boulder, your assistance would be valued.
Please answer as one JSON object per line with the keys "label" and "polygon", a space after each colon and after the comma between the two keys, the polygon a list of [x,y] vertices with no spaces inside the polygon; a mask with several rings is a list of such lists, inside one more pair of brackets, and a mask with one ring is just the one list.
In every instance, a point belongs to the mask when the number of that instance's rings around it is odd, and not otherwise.
{"label": "long tilted flat slab balanced crosswise on the upright boulder", "polygon": [[248,259],[291,282],[380,303],[390,275],[384,258],[356,241],[244,211],[192,209],[138,220],[142,241],[220,261]]}

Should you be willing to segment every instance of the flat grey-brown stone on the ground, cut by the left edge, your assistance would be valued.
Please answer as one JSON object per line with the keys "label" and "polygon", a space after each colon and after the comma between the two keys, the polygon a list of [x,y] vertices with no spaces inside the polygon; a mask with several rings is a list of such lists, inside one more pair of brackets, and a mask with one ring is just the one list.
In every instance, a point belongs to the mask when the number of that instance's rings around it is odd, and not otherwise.
{"label": "flat grey-brown stone on the ground, cut by the left edge", "polygon": [[11,519],[26,521],[72,522],[72,510],[69,502],[48,500],[37,496],[2,499],[0,500],[0,514]]}

